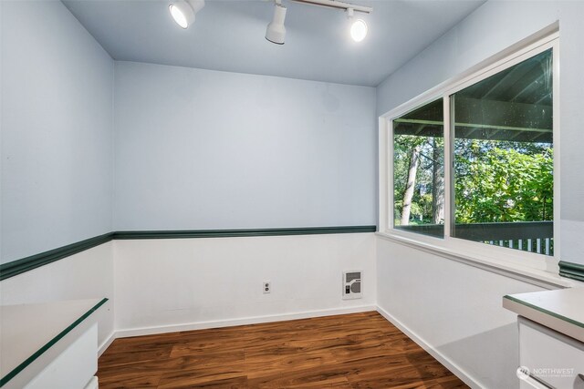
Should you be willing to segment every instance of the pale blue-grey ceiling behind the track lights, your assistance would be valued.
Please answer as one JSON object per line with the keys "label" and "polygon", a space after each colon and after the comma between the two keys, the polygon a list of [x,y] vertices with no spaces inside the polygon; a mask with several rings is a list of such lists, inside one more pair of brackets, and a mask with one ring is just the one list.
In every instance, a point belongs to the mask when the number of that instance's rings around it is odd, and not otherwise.
{"label": "pale blue-grey ceiling behind the track lights", "polygon": [[265,39],[267,0],[206,0],[193,26],[175,25],[164,0],[63,0],[116,60],[375,87],[485,0],[352,0],[369,35],[355,43],[341,10],[287,6],[286,44]]}

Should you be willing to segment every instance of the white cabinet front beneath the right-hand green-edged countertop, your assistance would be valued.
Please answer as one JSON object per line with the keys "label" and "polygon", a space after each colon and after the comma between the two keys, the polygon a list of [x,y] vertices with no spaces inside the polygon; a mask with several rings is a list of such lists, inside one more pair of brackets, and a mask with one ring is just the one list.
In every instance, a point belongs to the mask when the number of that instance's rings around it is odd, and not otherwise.
{"label": "white cabinet front beneath the right-hand green-edged countertop", "polygon": [[518,323],[519,363],[529,373],[521,389],[584,389],[584,343],[522,316]]}

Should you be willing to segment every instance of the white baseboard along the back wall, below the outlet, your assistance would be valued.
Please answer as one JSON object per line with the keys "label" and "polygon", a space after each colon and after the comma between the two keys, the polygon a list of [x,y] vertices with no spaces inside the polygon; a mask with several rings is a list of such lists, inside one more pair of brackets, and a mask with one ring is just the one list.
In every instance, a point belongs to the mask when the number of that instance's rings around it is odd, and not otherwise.
{"label": "white baseboard along the back wall, below the outlet", "polygon": [[[243,319],[231,319],[215,322],[188,322],[183,324],[170,324],[152,327],[131,328],[119,330],[115,333],[115,338],[127,338],[130,336],[152,335],[157,333],[177,333],[180,331],[203,330],[207,328],[233,327],[235,325],[257,324],[260,322],[284,322],[287,320],[308,319],[311,317],[331,316],[335,314],[346,314],[356,312],[376,311],[375,305],[361,305],[350,308],[334,308],[322,311],[306,311],[268,316],[254,316]],[[115,339],[114,338],[114,339]],[[113,339],[112,339],[113,341]],[[108,344],[109,345],[109,344]],[[104,349],[105,350],[105,349]]]}

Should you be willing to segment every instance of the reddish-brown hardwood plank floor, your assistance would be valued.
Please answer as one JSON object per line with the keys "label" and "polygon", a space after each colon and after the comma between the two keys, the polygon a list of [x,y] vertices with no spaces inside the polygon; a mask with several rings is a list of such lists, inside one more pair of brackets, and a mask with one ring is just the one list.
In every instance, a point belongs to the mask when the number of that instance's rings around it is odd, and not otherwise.
{"label": "reddish-brown hardwood plank floor", "polygon": [[117,339],[99,388],[463,388],[377,312]]}

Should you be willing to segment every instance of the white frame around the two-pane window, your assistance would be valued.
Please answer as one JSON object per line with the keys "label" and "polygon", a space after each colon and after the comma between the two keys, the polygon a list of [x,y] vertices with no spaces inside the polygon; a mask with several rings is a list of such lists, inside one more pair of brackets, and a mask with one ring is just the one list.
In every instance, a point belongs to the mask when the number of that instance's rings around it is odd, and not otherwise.
{"label": "white frame around the two-pane window", "polygon": [[[440,84],[437,87],[422,93],[418,97],[402,104],[381,115],[380,143],[379,143],[379,234],[391,238],[394,241],[401,241],[415,247],[446,253],[450,256],[462,256],[464,259],[481,261],[494,264],[495,267],[505,268],[519,265],[522,267],[537,269],[540,271],[550,271],[558,273],[558,261],[560,257],[560,150],[559,150],[559,33],[558,26],[552,26],[551,31],[542,31],[536,36],[527,38],[515,46],[509,47],[502,53],[488,58],[484,62],[472,67],[458,77],[454,77]],[[452,223],[454,220],[454,126],[451,123],[452,109],[451,96],[470,87],[487,77],[491,77],[508,67],[537,56],[549,48],[552,49],[552,104],[553,115],[553,147],[554,147],[554,255],[531,253],[518,251],[495,245],[488,245],[482,242],[467,241],[451,236]],[[432,103],[436,99],[443,99],[443,128],[444,128],[444,236],[443,238],[422,235],[407,230],[395,229],[393,226],[393,120],[411,112],[414,109]]]}

